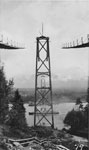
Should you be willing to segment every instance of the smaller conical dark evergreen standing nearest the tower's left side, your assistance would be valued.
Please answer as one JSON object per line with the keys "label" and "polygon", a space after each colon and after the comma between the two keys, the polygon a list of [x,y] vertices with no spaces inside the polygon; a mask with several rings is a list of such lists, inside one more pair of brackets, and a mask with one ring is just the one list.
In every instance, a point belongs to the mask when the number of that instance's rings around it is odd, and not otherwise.
{"label": "smaller conical dark evergreen standing nearest the tower's left side", "polygon": [[9,125],[11,128],[24,129],[27,126],[25,118],[25,108],[19,91],[15,91],[15,96],[10,110]]}

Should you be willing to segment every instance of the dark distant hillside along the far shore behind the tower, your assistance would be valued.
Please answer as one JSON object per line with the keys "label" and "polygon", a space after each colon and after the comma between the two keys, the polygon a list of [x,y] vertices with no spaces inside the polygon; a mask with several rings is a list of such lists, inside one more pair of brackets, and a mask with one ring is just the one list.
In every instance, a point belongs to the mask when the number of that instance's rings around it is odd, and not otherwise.
{"label": "dark distant hillside along the far shore behind the tower", "polygon": [[[34,88],[19,88],[20,94],[23,97],[25,103],[34,102],[35,100],[35,89]],[[87,90],[85,88],[53,88],[53,102],[76,102],[78,97],[82,101],[86,101]]]}

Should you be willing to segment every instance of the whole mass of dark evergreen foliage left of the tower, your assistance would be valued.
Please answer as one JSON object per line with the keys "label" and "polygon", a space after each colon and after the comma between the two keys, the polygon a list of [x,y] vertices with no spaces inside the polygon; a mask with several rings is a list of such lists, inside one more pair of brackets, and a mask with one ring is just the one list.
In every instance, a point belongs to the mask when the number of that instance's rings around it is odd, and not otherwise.
{"label": "whole mass of dark evergreen foliage left of the tower", "polygon": [[[7,80],[4,67],[0,68],[0,124],[7,124],[11,128],[23,129],[27,126],[25,108],[19,91],[12,97],[13,80]],[[12,107],[9,107],[9,104]]]}

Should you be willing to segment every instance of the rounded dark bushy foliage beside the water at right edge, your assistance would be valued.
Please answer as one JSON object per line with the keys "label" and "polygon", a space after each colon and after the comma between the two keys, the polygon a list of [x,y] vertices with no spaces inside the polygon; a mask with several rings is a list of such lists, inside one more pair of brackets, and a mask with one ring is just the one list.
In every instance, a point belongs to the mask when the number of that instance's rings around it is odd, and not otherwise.
{"label": "rounded dark bushy foliage beside the water at right edge", "polygon": [[81,130],[88,128],[88,110],[89,104],[87,104],[81,110],[75,111],[74,109],[66,115],[64,123],[71,126],[73,130]]}

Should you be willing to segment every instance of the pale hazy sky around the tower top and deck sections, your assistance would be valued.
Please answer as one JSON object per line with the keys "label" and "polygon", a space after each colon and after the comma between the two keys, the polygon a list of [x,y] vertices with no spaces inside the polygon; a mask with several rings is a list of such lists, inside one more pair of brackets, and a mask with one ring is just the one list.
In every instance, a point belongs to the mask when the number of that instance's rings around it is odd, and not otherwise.
{"label": "pale hazy sky around the tower top and deck sections", "polygon": [[63,50],[62,44],[87,37],[89,1],[0,0],[0,35],[25,44],[24,50],[0,50],[8,78],[16,87],[34,87],[36,37],[50,37],[53,80],[86,78],[88,48]]}

